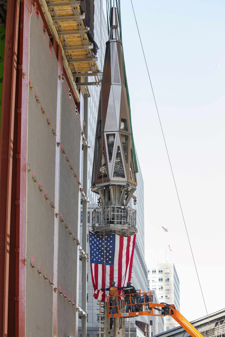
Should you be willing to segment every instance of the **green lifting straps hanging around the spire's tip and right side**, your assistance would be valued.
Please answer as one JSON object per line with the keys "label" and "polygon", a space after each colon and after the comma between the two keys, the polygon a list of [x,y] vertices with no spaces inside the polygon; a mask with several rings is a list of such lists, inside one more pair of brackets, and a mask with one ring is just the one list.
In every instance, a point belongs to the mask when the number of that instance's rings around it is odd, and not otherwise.
{"label": "green lifting straps hanging around the spire's tip and right side", "polygon": [[[108,34],[109,34],[109,26],[110,26],[111,8],[112,8],[112,0],[106,0]],[[123,54],[122,29],[121,29],[121,17],[120,17],[120,0],[116,0],[116,8],[117,8],[119,34],[120,34],[120,40],[121,40],[121,45],[122,45],[122,54]],[[126,93],[127,93],[127,96],[128,96],[128,106],[129,106],[129,115],[130,115],[130,124],[131,124],[131,140],[132,140],[132,149],[133,149],[133,155],[134,155],[135,172],[138,173],[138,164],[137,164],[137,158],[136,158],[136,152],[135,152],[135,146],[134,146],[134,137],[133,137],[133,130],[132,130],[132,122],[131,122],[131,105],[130,105],[128,83],[127,83],[127,79],[126,79],[126,67],[125,67],[125,62],[124,62],[124,54],[123,54],[123,67],[124,67],[124,73],[125,73]]]}

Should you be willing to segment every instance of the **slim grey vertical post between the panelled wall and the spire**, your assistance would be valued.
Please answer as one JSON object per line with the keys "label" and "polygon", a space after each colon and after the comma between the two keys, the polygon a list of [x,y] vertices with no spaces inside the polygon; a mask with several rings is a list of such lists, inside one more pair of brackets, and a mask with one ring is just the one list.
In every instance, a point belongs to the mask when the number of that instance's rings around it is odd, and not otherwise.
{"label": "slim grey vertical post between the panelled wall and the spire", "polygon": [[[88,95],[84,95],[85,136],[88,136]],[[87,195],[88,148],[83,150],[83,189]],[[83,201],[82,248],[87,253],[87,202]],[[87,312],[87,259],[82,258],[82,309]],[[82,337],[87,336],[87,318],[81,318]]]}

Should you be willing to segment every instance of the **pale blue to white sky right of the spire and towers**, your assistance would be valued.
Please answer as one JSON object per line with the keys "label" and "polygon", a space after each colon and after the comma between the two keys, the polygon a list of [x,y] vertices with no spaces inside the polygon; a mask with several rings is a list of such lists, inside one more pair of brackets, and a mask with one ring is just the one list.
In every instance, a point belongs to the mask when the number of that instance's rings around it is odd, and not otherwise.
{"label": "pale blue to white sky right of the spire and towers", "polygon": [[[133,6],[210,314],[225,307],[225,3],[133,0]],[[191,321],[205,316],[206,309],[130,0],[121,0],[121,24],[134,141],[144,179],[145,261],[150,268],[149,249],[161,248],[163,234],[162,248],[180,281],[180,312]]]}

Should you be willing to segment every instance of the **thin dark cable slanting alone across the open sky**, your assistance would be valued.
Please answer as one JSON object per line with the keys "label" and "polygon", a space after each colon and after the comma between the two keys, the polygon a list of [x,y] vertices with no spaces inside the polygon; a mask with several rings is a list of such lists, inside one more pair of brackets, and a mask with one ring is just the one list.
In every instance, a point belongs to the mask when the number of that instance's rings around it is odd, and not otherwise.
{"label": "thin dark cable slanting alone across the open sky", "polygon": [[[133,7],[132,0],[131,0],[131,5],[132,5],[133,12],[134,12],[134,7]],[[171,165],[171,162],[170,162],[170,157],[169,157],[169,153],[168,153],[168,149],[167,149],[167,145],[166,145],[166,140],[165,140],[165,136],[164,136],[164,133],[163,133],[163,127],[162,127],[162,123],[161,123],[161,120],[160,120],[160,115],[159,115],[159,111],[158,111],[158,107],[157,107],[157,103],[156,103],[156,98],[155,98],[153,87],[152,87],[152,84],[151,84],[151,79],[150,79],[150,75],[149,75],[149,71],[148,71],[148,66],[147,66],[147,62],[146,62],[146,58],[145,58],[145,54],[144,54],[144,49],[143,49],[143,45],[142,45],[142,41],[141,41],[141,36],[140,36],[140,33],[139,33],[139,29],[138,29],[138,24],[137,24],[135,12],[134,12],[134,18],[135,18],[135,22],[136,22],[136,26],[137,26],[137,30],[138,30],[139,39],[140,39],[140,42],[141,42],[141,48],[142,48],[142,52],[143,52],[143,55],[144,55],[144,60],[145,60],[145,64],[146,64],[146,68],[147,68],[147,72],[148,72],[148,77],[149,77],[149,81],[150,81],[150,85],[151,85],[151,90],[152,90],[154,102],[155,102],[155,105],[156,105],[157,114],[158,114],[158,117],[159,117],[160,127],[161,127],[161,130],[162,130],[163,139],[164,139],[164,143],[165,143],[165,147],[166,147],[166,152],[167,152],[167,156],[168,156],[168,159],[169,159],[169,164],[170,164],[170,168],[171,168],[171,172],[172,172],[172,176],[173,176],[173,181],[174,181],[174,185],[175,185],[175,189],[176,189],[176,194],[177,194],[177,197],[178,197],[178,201],[179,201],[179,205],[180,205],[180,210],[181,210],[182,218],[183,218],[183,221],[184,221],[184,224],[185,224],[185,230],[186,230],[186,233],[187,233],[188,242],[189,242],[190,249],[191,249],[191,254],[192,254],[192,257],[193,257],[193,261],[194,261],[194,265],[195,265],[195,270],[196,270],[196,273],[197,273],[198,282],[199,282],[199,286],[200,286],[200,289],[201,289],[201,294],[202,294],[205,310],[206,310],[207,317],[208,317],[209,326],[210,326],[210,329],[211,329],[211,332],[212,332],[212,336],[213,336],[213,331],[212,331],[212,328],[211,328],[211,325],[210,325],[209,316],[208,316],[208,312],[207,312],[207,308],[206,308],[206,304],[205,304],[205,299],[204,299],[204,296],[203,296],[202,287],[201,287],[201,283],[200,283],[200,280],[199,280],[198,271],[197,271],[197,267],[196,267],[196,264],[195,264],[195,259],[194,259],[194,255],[193,255],[193,251],[192,251],[192,247],[191,247],[191,242],[190,242],[190,239],[189,239],[188,230],[187,230],[187,226],[186,226],[186,223],[185,223],[185,218],[184,218],[184,214],[183,214],[181,203],[180,203],[179,194],[178,194],[177,187],[176,187],[176,182],[175,182],[175,178],[174,178],[174,174],[173,174],[173,169],[172,169],[172,165]]]}

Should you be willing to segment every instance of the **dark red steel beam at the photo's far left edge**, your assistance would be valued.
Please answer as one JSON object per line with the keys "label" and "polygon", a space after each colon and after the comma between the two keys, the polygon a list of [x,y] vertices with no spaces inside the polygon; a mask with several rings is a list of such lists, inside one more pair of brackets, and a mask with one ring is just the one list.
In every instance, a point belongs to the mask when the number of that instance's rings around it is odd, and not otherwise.
{"label": "dark red steel beam at the photo's far left edge", "polygon": [[15,88],[17,75],[17,49],[20,2],[9,1],[6,17],[5,53],[2,89],[2,114],[0,132],[0,331],[7,336],[9,242],[11,215],[12,151],[15,113]]}

